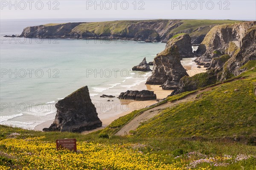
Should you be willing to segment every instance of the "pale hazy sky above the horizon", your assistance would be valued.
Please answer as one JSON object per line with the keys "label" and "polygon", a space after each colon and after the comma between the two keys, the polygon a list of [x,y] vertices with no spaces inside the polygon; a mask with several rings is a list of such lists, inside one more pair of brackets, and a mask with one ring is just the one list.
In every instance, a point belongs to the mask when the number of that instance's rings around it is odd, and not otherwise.
{"label": "pale hazy sky above the horizon", "polygon": [[1,0],[0,19],[256,20],[256,0]]}

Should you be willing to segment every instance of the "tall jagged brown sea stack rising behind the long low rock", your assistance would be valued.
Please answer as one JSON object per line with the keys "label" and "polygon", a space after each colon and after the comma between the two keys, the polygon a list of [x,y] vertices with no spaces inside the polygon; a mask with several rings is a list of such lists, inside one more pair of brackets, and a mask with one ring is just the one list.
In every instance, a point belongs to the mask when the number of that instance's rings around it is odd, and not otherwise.
{"label": "tall jagged brown sea stack rising behind the long low rock", "polygon": [[[176,38],[180,40],[180,37]],[[154,58],[152,75],[148,77],[146,84],[162,85],[163,89],[171,90],[179,86],[181,77],[188,76],[180,63],[178,47],[173,45],[174,42],[175,40],[168,41],[165,50]]]}

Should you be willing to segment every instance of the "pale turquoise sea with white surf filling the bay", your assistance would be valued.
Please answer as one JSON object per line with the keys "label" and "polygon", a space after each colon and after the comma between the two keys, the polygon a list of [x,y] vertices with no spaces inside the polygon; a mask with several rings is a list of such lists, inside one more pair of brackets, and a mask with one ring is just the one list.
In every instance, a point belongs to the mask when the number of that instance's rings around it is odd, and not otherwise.
{"label": "pale turquoise sea with white surf filling the bay", "polygon": [[[112,19],[109,19],[112,20]],[[27,26],[47,23],[94,22],[100,19],[38,19],[0,21],[0,124],[34,129],[54,119],[55,103],[88,86],[100,119],[118,114],[102,94],[119,96],[143,90],[151,72],[131,71],[144,57],[153,61],[165,43],[125,40],[12,38]],[[193,49],[196,50],[196,46]],[[182,60],[192,65],[193,59]],[[151,66],[152,67],[152,66]],[[119,107],[119,99],[111,98]],[[112,105],[113,106],[113,105]],[[121,111],[123,111],[121,109]]]}

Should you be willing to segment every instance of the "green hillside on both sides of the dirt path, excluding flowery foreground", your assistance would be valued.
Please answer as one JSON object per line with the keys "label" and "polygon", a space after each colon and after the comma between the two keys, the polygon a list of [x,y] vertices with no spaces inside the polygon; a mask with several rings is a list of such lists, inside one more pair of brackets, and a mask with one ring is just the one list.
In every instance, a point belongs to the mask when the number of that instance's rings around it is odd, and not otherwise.
{"label": "green hillside on both sides of the dirt path, excluding flowery foreground", "polygon": [[[246,78],[212,86],[209,91],[199,94],[195,101],[166,108],[132,133],[137,137],[256,136],[256,69],[239,77],[242,76]],[[169,97],[168,100],[190,93],[193,91]],[[131,118],[127,120],[125,117],[133,117],[132,114],[117,119],[102,133],[113,134],[111,130],[131,121]]]}

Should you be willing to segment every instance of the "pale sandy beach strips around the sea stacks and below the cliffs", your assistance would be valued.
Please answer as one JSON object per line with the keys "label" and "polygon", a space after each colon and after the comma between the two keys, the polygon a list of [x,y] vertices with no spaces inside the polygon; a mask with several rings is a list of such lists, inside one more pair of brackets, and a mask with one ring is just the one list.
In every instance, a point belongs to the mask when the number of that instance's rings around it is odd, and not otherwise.
{"label": "pale sandy beach strips around the sea stacks and below the cliffs", "polygon": [[[188,60],[188,59],[187,59]],[[197,65],[197,63],[192,61],[193,58],[189,58],[188,61],[190,61],[190,65],[183,65],[183,67],[186,69],[186,72],[189,74],[190,77],[194,76],[195,74],[206,72],[206,68],[202,65]],[[201,66],[201,68],[198,68],[198,66]],[[145,82],[140,83],[140,85],[137,85],[136,90],[149,90],[154,91],[154,93],[157,95],[156,100],[147,100],[147,101],[135,101],[135,100],[124,100],[124,99],[118,99],[118,101],[114,102],[106,102],[105,100],[102,100],[101,104],[109,105],[109,110],[104,111],[97,111],[99,119],[102,121],[102,127],[98,127],[93,130],[84,131],[81,132],[82,134],[88,134],[95,132],[97,130],[104,129],[108,125],[111,124],[114,120],[118,119],[121,116],[125,116],[128,113],[131,113],[134,110],[139,110],[142,108],[145,108],[149,105],[153,105],[157,103],[157,100],[166,98],[169,94],[172,93],[172,90],[163,90],[160,85],[145,85]],[[108,98],[104,98],[108,99]],[[111,98],[109,98],[111,99]],[[96,103],[94,103],[96,104]],[[116,104],[119,105],[119,107],[116,108]],[[97,107],[96,107],[97,108]],[[100,108],[102,109],[102,108]],[[99,110],[99,108],[98,108]],[[35,126],[34,130],[42,131],[43,128],[49,127],[54,119],[49,120],[47,122],[41,123],[37,126]]]}

